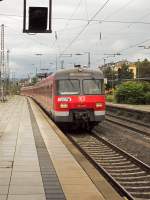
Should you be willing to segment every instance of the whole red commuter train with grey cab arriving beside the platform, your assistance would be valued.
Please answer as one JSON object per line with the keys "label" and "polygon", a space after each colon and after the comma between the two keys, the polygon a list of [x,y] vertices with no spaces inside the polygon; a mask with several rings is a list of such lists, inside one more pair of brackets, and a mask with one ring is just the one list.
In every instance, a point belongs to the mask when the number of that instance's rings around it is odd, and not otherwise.
{"label": "whole red commuter train with grey cab arriving beside the platform", "polygon": [[36,100],[55,122],[92,128],[105,118],[104,78],[97,70],[57,71],[21,93]]}

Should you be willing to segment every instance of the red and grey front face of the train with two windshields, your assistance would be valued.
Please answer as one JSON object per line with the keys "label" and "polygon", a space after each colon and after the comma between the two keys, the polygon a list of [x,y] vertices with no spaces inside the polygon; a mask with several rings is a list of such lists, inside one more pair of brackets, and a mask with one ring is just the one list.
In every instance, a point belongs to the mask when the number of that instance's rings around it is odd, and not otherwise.
{"label": "red and grey front face of the train with two windshields", "polygon": [[55,75],[56,122],[93,127],[105,118],[104,78],[100,71],[73,69]]}

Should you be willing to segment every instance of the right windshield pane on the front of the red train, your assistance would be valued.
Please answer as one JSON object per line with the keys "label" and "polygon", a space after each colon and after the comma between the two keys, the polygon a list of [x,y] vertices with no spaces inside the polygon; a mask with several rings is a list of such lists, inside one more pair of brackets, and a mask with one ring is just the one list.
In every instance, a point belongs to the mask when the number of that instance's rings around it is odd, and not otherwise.
{"label": "right windshield pane on the front of the red train", "polygon": [[98,95],[103,93],[103,81],[100,79],[83,80],[83,92],[87,95]]}

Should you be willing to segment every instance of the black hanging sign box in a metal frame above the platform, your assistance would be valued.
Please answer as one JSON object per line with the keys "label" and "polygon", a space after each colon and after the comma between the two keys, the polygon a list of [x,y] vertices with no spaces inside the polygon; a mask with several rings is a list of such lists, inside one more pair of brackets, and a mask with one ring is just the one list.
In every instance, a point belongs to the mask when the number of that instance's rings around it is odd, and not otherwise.
{"label": "black hanging sign box in a metal frame above the platform", "polygon": [[27,28],[27,0],[24,0],[23,33],[51,33],[52,0],[48,7],[28,8]]}

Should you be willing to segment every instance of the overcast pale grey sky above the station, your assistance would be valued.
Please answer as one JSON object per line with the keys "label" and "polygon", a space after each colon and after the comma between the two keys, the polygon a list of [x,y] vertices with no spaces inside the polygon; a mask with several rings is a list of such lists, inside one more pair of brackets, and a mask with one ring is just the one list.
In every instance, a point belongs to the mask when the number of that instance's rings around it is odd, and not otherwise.
{"label": "overcast pale grey sky above the station", "polygon": [[[27,2],[28,6],[48,5],[48,0]],[[29,35],[22,33],[23,0],[0,2],[5,49],[10,50],[10,67],[17,77],[34,74],[36,67],[40,71],[37,53],[43,54],[42,68],[49,71],[55,70],[56,55],[58,67],[64,60],[66,68],[74,63],[87,65],[85,52],[91,53],[92,68],[104,63],[104,54],[121,54],[106,58],[106,62],[150,57],[150,49],[138,47],[150,46],[148,0],[53,0],[52,10],[52,33]]]}

